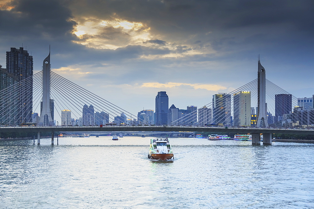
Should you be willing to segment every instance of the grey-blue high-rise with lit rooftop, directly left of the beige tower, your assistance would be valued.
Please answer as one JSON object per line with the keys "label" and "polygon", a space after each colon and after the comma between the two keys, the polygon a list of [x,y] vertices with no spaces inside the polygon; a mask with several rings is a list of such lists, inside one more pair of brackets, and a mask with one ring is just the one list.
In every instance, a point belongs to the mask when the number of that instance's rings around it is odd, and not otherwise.
{"label": "grey-blue high-rise with lit rooftop, directly left of the beige tower", "polygon": [[231,94],[213,95],[213,123],[231,125]]}

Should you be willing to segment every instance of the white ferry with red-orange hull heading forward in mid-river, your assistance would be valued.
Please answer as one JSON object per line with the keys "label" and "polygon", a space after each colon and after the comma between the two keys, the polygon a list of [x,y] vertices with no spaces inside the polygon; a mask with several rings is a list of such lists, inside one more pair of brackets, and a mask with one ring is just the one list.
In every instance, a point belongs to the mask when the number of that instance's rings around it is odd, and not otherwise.
{"label": "white ferry with red-orange hull heading forward in mid-river", "polygon": [[148,159],[165,161],[171,158],[174,159],[174,156],[168,137],[150,140]]}

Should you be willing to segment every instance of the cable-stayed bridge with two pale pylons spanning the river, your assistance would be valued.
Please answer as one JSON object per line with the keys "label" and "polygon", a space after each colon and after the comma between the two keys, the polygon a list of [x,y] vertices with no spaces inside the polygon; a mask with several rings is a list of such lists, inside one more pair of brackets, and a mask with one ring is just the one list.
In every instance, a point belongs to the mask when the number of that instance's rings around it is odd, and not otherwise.
{"label": "cable-stayed bridge with two pale pylons spanning the river", "polygon": [[[265,77],[265,69],[258,61],[257,79],[233,90],[230,93],[216,94],[213,101],[203,109],[210,109],[211,116],[206,124],[217,123],[217,127],[204,126],[200,110],[195,110],[183,117],[171,120],[167,125],[151,125],[136,115],[114,105],[96,94],[74,84],[68,79],[51,71],[50,53],[43,62],[43,70],[33,76],[16,82],[0,91],[0,132],[40,132],[43,131],[206,131],[229,133],[252,133],[252,144],[271,144],[272,133],[314,134],[309,128],[283,129],[270,126],[267,114],[275,114],[275,95],[290,95],[290,110],[297,105],[297,98],[281,89]],[[284,97],[285,99],[285,97]],[[89,104],[89,106],[87,105]],[[252,124],[251,107],[256,107],[256,121]],[[39,125],[36,127],[16,127],[32,122],[33,110],[40,109]],[[55,111],[56,110],[56,111]],[[71,110],[71,118],[77,118],[75,124],[68,122],[61,126],[53,126],[54,115],[64,121],[68,119],[67,111]],[[96,113],[94,114],[94,111]],[[64,115],[62,115],[64,113]],[[61,115],[60,115],[61,114]],[[98,115],[96,117],[96,115]],[[116,116],[115,116],[116,115]],[[254,115],[254,114],[253,114]],[[314,114],[299,121],[309,124],[314,121]],[[123,121],[122,125],[110,124],[109,121]],[[195,124],[198,121],[199,124]],[[243,125],[244,124],[244,125]],[[314,124],[312,122],[311,124]],[[255,127],[249,127],[253,126]],[[15,126],[15,127],[14,127]],[[103,127],[100,127],[103,126]],[[220,126],[220,127],[219,127]],[[244,127],[243,127],[244,126]],[[40,141],[38,142],[38,144]],[[52,138],[53,144],[53,138]]]}

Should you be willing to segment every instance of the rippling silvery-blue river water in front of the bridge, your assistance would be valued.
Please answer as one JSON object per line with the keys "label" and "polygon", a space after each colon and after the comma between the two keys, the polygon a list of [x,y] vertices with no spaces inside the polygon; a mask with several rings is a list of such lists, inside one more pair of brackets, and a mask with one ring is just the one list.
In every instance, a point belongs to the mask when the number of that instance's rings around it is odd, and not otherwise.
{"label": "rippling silvery-blue river water in front of the bridge", "polygon": [[314,207],[313,144],[171,138],[175,159],[160,162],[149,142],[0,142],[0,207]]}

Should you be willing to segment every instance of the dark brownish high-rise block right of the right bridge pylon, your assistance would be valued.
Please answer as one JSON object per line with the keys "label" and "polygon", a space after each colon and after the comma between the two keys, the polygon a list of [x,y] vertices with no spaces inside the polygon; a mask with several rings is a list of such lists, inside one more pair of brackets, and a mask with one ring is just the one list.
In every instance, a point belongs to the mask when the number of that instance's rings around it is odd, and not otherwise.
{"label": "dark brownish high-rise block right of the right bridge pylon", "polygon": [[275,94],[275,122],[283,119],[284,114],[289,114],[292,110],[291,94]]}

